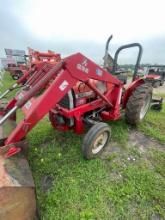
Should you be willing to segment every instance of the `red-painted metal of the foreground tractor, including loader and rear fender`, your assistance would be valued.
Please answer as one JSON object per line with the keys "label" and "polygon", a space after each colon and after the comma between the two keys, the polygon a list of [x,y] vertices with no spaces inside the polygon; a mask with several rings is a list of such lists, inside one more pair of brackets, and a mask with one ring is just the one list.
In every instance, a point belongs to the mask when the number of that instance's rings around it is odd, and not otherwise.
{"label": "red-painted metal of the foreground tractor, including loader and rear fender", "polygon": [[[25,138],[27,133],[49,112],[51,119],[56,115],[64,116],[68,120],[73,119],[73,126],[65,123],[59,126],[56,121],[53,122],[53,126],[63,131],[73,129],[77,134],[84,132],[83,119],[88,112],[104,107],[101,112],[103,120],[120,118],[123,83],[80,53],[69,56],[58,64],[40,63],[38,70],[28,78],[28,82],[31,88],[21,92],[22,98],[20,99],[18,94],[13,99],[16,101],[8,104],[10,108],[13,106],[21,108],[25,118],[6,139],[6,145],[17,143]],[[99,90],[99,82],[105,83],[105,91]],[[144,81],[139,79],[130,84],[123,94],[124,107],[132,91],[142,83]],[[58,103],[71,89],[75,95],[89,91],[92,91],[93,95],[83,97],[82,104],[79,103],[72,109],[63,108]],[[13,148],[8,155],[12,155],[12,152],[15,153],[16,149]]]}

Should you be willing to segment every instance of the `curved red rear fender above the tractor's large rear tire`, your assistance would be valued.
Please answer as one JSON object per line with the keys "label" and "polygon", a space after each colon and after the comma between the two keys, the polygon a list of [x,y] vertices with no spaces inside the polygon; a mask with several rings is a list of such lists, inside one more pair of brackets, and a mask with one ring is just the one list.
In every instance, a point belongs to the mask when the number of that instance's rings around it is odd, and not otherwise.
{"label": "curved red rear fender above the tractor's large rear tire", "polygon": [[127,89],[125,90],[123,97],[122,97],[122,107],[123,108],[126,108],[126,104],[128,102],[128,99],[131,96],[131,94],[133,93],[133,91],[138,86],[140,86],[144,83],[145,83],[144,79],[137,79],[137,80],[133,81],[132,83],[130,83],[130,85],[127,87]]}

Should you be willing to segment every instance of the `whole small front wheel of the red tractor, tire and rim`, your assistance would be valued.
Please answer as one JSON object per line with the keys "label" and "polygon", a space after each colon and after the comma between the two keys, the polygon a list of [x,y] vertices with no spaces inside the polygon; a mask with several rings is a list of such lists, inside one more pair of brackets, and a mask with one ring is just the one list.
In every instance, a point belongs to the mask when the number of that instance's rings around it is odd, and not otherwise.
{"label": "whole small front wheel of the red tractor, tire and rim", "polygon": [[111,137],[110,127],[103,122],[93,125],[84,137],[82,152],[85,159],[97,157],[108,145]]}

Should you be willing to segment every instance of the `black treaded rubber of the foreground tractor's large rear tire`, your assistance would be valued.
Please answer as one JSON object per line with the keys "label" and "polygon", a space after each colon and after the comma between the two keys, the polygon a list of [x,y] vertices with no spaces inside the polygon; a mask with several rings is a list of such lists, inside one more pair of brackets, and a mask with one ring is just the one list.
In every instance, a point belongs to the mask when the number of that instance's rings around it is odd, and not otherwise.
{"label": "black treaded rubber of the foreground tractor's large rear tire", "polygon": [[[126,121],[129,124],[137,125],[139,122],[141,122],[144,119],[144,117],[146,116],[150,108],[150,104],[152,100],[152,90],[153,90],[152,85],[145,83],[145,84],[138,86],[133,91],[133,93],[128,99],[126,110],[125,110]],[[148,98],[147,101],[150,103],[149,103],[149,106],[147,106],[146,113],[141,118],[140,113],[144,105],[144,102],[146,101],[147,98]]]}

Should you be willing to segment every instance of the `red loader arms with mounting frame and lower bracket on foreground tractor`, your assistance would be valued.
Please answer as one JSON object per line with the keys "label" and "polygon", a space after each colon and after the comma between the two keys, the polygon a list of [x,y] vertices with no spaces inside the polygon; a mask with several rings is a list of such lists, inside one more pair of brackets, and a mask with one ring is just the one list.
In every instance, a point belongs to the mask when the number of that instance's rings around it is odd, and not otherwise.
{"label": "red loader arms with mounting frame and lower bracket on foreground tractor", "polygon": [[[36,73],[37,74],[37,73]],[[35,74],[33,75],[33,78]],[[90,79],[111,83],[113,88],[102,94]],[[88,104],[68,110],[58,105],[59,101],[76,85],[83,82],[93,90],[98,98]],[[11,156],[21,149],[15,147],[15,143],[23,140],[27,133],[50,111],[58,111],[64,116],[74,117],[74,131],[78,134],[84,130],[83,115],[94,109],[105,107],[101,113],[103,120],[117,120],[120,118],[120,104],[122,98],[123,83],[106,70],[83,56],[81,53],[65,58],[52,67],[39,81],[32,84],[29,89],[22,90],[12,99],[3,111],[0,112],[2,125],[7,119],[14,119],[18,108],[21,108],[25,118],[19,122],[13,132],[4,141],[4,145],[12,145],[7,152]],[[41,90],[41,95],[37,96]],[[66,127],[66,129],[68,129]]]}

